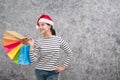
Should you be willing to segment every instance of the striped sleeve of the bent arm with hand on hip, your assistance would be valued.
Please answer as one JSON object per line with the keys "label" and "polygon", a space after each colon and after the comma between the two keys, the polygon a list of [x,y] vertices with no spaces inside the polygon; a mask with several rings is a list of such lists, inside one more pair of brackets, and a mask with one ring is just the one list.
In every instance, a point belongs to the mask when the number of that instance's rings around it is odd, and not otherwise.
{"label": "striped sleeve of the bent arm with hand on hip", "polygon": [[71,49],[66,41],[61,39],[60,43],[61,43],[61,45],[60,45],[61,49],[63,49],[67,55],[67,57],[65,58],[64,64],[63,64],[67,68],[70,65],[70,62],[71,62],[72,57],[73,57],[73,53],[72,53],[72,51],[71,51]]}

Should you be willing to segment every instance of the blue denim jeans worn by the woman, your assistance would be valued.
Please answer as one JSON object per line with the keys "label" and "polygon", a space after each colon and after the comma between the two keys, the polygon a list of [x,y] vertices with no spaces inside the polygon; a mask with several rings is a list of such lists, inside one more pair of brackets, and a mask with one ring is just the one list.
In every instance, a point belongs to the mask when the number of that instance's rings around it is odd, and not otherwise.
{"label": "blue denim jeans worn by the woman", "polygon": [[40,69],[35,69],[35,74],[37,80],[58,80],[58,74],[53,71],[46,71],[46,70],[40,70]]}

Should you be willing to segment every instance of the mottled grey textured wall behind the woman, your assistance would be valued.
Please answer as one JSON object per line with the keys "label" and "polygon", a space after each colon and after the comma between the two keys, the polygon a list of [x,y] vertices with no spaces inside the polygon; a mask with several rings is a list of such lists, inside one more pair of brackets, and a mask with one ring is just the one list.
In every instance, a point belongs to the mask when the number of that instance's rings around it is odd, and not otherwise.
{"label": "mottled grey textured wall behind the woman", "polygon": [[15,30],[37,39],[42,13],[74,53],[60,80],[120,80],[120,0],[0,0],[0,80],[35,80],[32,65],[16,65],[5,55],[2,36]]}

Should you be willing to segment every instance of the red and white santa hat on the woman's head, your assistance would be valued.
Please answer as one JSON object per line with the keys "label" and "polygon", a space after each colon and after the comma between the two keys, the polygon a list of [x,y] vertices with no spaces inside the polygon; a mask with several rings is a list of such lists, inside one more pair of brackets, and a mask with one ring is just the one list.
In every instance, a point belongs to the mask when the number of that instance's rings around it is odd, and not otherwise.
{"label": "red and white santa hat on the woman's head", "polygon": [[42,14],[39,18],[38,18],[38,20],[37,20],[37,26],[36,26],[36,28],[38,29],[39,28],[39,22],[45,22],[45,23],[48,23],[48,24],[50,24],[50,25],[54,25],[54,23],[53,23],[53,20],[51,19],[51,17],[49,16],[49,15],[47,15],[47,14]]}

